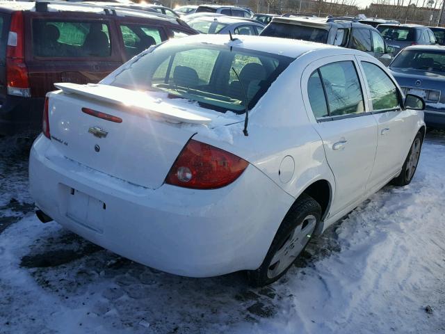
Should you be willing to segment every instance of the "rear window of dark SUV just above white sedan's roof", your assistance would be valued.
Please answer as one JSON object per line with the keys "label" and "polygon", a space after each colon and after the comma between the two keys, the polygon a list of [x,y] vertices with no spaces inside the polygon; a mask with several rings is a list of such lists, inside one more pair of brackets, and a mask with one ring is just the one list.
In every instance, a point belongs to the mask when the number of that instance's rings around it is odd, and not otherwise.
{"label": "rear window of dark SUV just above white sedan's roof", "polygon": [[290,38],[293,40],[309,40],[311,42],[326,43],[327,33],[325,29],[312,26],[297,26],[296,24],[270,23],[261,32],[261,36]]}

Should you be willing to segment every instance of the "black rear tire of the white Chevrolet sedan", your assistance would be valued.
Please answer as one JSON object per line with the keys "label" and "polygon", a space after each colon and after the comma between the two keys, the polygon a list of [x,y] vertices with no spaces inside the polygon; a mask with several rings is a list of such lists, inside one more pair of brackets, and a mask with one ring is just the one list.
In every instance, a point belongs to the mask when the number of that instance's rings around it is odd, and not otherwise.
{"label": "black rear tire of the white Chevrolet sedan", "polygon": [[[289,242],[289,238],[293,236],[293,234],[295,233],[294,231],[296,231],[296,229],[299,228],[300,225],[303,228],[303,223],[306,223],[308,217],[311,217],[311,226],[307,225],[307,228],[309,228],[309,230],[314,223],[312,217],[315,218],[315,223],[310,234],[307,234],[309,237],[305,236],[304,240],[300,238],[301,241],[300,244],[298,244],[297,248],[300,247],[301,244],[304,243],[304,241],[306,241],[304,246],[301,248],[300,251],[297,250],[298,253],[293,254],[295,258],[291,260],[289,265],[283,263],[283,265],[285,265],[286,267],[284,267],[280,272],[277,272],[276,275],[274,275],[273,277],[270,277],[270,268],[274,265],[277,266],[277,263],[280,262],[279,261],[275,264],[271,264],[271,261],[273,260],[275,254],[277,254],[278,250],[282,251],[286,243]],[[280,228],[278,228],[277,234],[275,234],[275,238],[270,245],[268,253],[266,254],[266,257],[264,257],[264,261],[261,264],[261,267],[259,267],[257,270],[248,271],[248,280],[250,285],[254,287],[262,287],[280,279],[286,273],[286,271],[289,270],[298,255],[305,249],[305,247],[309,243],[309,240],[312,238],[312,232],[314,232],[314,229],[316,228],[316,225],[318,224],[320,219],[321,206],[318,204],[318,202],[316,202],[316,200],[314,200],[314,198],[303,193],[302,196],[300,196],[300,198],[298,198],[298,200],[293,203],[291,209],[289,209],[289,212],[284,217]],[[301,231],[304,232],[304,229],[302,229]],[[297,244],[297,241],[295,241],[295,244]],[[291,250],[293,250],[293,247],[291,248]]]}

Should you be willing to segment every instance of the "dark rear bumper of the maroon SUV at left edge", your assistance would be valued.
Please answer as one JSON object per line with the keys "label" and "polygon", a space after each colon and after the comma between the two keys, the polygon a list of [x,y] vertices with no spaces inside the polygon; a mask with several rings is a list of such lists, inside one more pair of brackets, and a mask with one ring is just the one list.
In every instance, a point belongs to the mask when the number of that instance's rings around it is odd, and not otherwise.
{"label": "dark rear bumper of the maroon SUV at left edge", "polygon": [[0,134],[40,132],[43,105],[44,97],[6,95],[0,107]]}

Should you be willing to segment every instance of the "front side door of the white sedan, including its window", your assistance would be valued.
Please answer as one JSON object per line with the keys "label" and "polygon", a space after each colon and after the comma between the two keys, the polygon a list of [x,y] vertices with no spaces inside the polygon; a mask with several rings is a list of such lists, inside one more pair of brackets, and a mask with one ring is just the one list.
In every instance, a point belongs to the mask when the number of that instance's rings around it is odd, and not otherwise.
{"label": "front side door of the white sedan, including its window", "polygon": [[401,108],[401,92],[380,63],[361,56],[357,59],[370,92],[369,106],[378,122],[378,145],[369,186],[382,186],[405,161],[412,141],[412,113]]}

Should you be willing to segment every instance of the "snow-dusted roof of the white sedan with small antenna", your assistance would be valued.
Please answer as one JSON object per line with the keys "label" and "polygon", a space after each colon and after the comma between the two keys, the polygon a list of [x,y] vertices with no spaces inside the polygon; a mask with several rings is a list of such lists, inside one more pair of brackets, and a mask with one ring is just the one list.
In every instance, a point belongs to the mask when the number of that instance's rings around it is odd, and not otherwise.
{"label": "snow-dusted roof of the white sedan with small antenna", "polygon": [[[240,47],[243,49],[256,50],[269,54],[277,54],[280,56],[288,56],[298,58],[302,54],[308,52],[318,52],[326,55],[334,54],[360,54],[361,51],[336,47],[333,45],[321,44],[316,42],[307,42],[305,40],[291,40],[288,38],[276,38],[266,36],[252,35],[236,35],[234,40],[230,40],[229,35],[189,35],[183,38],[170,40],[169,43],[175,42],[179,44],[204,44],[204,45],[227,45],[232,47]],[[371,57],[371,56],[370,56]],[[372,57],[371,57],[372,58]]]}

